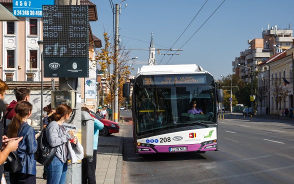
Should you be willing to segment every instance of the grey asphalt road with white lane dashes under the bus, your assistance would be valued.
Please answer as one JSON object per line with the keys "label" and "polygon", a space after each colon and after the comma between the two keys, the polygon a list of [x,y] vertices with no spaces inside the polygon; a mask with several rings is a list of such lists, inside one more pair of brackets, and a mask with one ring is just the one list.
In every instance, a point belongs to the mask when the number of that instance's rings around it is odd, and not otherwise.
{"label": "grey asphalt road with white lane dashes under the bus", "polygon": [[219,151],[136,155],[125,125],[122,183],[293,183],[293,129],[279,119],[219,120]]}

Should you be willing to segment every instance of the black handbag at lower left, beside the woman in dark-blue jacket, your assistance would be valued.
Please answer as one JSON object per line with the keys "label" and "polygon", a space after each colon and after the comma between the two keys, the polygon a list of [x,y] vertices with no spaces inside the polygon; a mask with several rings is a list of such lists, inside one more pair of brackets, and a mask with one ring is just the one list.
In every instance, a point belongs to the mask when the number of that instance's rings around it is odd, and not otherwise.
{"label": "black handbag at lower left, beside the woman in dark-blue jacket", "polygon": [[[23,126],[23,128],[25,126],[26,126],[26,124]],[[21,131],[18,135],[21,134],[23,128],[21,129]],[[4,170],[7,172],[16,172],[16,171],[20,170],[22,168],[24,158],[25,158],[25,154],[24,154],[22,160],[20,160],[20,157],[17,153],[17,150],[9,152],[9,154],[6,158],[6,162],[4,164]]]}

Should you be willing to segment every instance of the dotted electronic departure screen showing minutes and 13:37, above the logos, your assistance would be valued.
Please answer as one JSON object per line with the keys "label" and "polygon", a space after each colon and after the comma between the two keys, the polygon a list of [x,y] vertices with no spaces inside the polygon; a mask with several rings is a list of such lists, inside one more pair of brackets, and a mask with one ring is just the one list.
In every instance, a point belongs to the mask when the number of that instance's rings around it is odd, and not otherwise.
{"label": "dotted electronic departure screen showing minutes and 13:37, above the logos", "polygon": [[43,56],[88,57],[88,6],[43,5]]}

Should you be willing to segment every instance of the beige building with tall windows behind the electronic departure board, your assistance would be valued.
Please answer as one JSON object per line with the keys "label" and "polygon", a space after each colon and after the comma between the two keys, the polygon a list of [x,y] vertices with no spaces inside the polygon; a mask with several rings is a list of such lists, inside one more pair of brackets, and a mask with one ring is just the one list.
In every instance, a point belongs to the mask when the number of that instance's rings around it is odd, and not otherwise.
{"label": "beige building with tall windows behind the electronic departure board", "polygon": [[[0,3],[12,12],[12,0],[0,0]],[[89,0],[80,0],[81,5],[88,5],[89,21],[96,21],[96,5]],[[101,47],[101,40],[94,36],[89,27],[89,49]],[[31,90],[30,102],[33,104],[33,119],[39,122],[41,114],[41,60],[37,44],[42,40],[41,17],[19,17],[19,21],[0,21],[0,76],[6,81],[9,90],[6,91],[4,102],[9,103],[14,97],[14,89],[27,87]],[[89,57],[94,57],[94,52],[89,51]],[[89,63],[92,66],[92,63]],[[95,68],[90,69],[89,78],[96,78]],[[52,87],[51,81],[54,81]],[[84,100],[84,79],[81,84],[81,98]],[[52,88],[58,88],[58,78],[43,78],[43,106],[51,101]],[[93,104],[93,100],[88,100]],[[84,103],[85,105],[87,102]]]}

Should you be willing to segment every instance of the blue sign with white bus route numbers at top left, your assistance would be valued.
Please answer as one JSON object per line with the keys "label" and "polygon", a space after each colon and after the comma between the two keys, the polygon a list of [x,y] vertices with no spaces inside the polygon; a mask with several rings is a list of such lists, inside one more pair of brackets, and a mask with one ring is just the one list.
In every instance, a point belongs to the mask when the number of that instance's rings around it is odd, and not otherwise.
{"label": "blue sign with white bus route numbers at top left", "polygon": [[13,15],[42,17],[42,5],[54,5],[55,0],[13,0]]}

